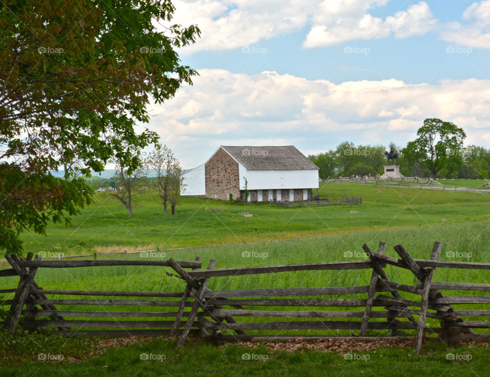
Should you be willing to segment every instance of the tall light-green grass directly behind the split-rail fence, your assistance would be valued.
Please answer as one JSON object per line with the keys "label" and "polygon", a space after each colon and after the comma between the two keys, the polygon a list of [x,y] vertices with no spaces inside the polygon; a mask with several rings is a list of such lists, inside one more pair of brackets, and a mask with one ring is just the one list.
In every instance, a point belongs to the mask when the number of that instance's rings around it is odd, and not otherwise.
{"label": "tall light-green grass directly behind the split-rail fence", "polygon": [[[211,259],[217,261],[216,268],[266,266],[299,263],[337,262],[367,259],[362,251],[366,243],[376,251],[379,241],[386,242],[385,253],[398,257],[393,246],[402,244],[415,258],[428,259],[434,241],[443,242],[440,260],[490,263],[490,244],[488,243],[488,221],[460,224],[443,224],[423,228],[390,228],[384,230],[365,230],[361,232],[338,232],[314,240],[295,240],[289,242],[268,242],[255,245],[218,246],[199,250],[179,250],[167,252],[164,259],[194,260],[197,253],[201,256],[202,268],[207,267]],[[248,252],[248,253],[247,253]],[[246,257],[245,255],[251,255]],[[260,257],[253,257],[253,256]],[[456,255],[456,257],[453,257]],[[463,255],[465,257],[463,257]],[[457,257],[459,256],[459,257]],[[468,256],[470,256],[468,258]],[[121,257],[122,258],[122,257]],[[137,260],[139,254],[131,254],[126,258]],[[37,283],[44,289],[76,289],[76,290],[127,290],[127,291],[171,291],[182,292],[184,282],[165,274],[168,268],[146,266],[117,266],[67,269],[39,269]],[[413,274],[405,269],[387,266],[385,269],[391,281],[414,285],[418,281]],[[242,275],[212,277],[208,287],[213,291],[252,289],[252,288],[320,288],[369,285],[371,270],[347,271],[298,271],[270,273],[259,275]],[[3,278],[3,287],[15,287],[18,279]],[[436,269],[434,281],[455,282],[490,282],[488,270]],[[487,292],[444,292],[448,295],[485,295]],[[416,298],[402,294],[406,298]],[[7,295],[4,295],[5,297]],[[50,296],[51,298],[67,298]],[[365,298],[365,294],[349,296],[328,296]],[[87,298],[72,297],[72,298]],[[120,299],[120,297],[116,297]],[[420,297],[419,297],[420,299]],[[175,299],[179,300],[179,299]],[[462,309],[464,305],[458,305]],[[471,305],[471,309],[485,309],[484,305]],[[470,309],[466,305],[467,309]],[[69,308],[69,309],[68,309]],[[81,307],[63,307],[66,310],[82,310]],[[252,309],[252,308],[251,308]],[[272,310],[260,307],[254,309]],[[291,307],[287,310],[310,310],[315,308]],[[336,310],[339,308],[329,308]],[[87,307],[85,307],[87,310]],[[90,310],[102,310],[92,307]],[[163,311],[165,308],[112,307],[105,310],[139,310]],[[175,308],[168,308],[175,311]],[[345,308],[342,310],[346,310]],[[352,308],[352,310],[362,310]],[[481,318],[484,319],[484,318]],[[241,321],[250,319],[240,318]],[[260,319],[267,321],[267,319]],[[331,335],[331,332],[330,332]]]}

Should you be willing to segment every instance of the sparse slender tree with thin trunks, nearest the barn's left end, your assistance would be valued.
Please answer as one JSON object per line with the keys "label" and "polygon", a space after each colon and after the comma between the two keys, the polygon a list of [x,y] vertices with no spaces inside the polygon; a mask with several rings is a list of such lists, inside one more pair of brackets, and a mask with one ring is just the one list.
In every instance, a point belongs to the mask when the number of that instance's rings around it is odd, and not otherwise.
{"label": "sparse slender tree with thin trunks, nearest the barn's left end", "polygon": [[158,195],[167,214],[167,202],[170,202],[171,213],[175,215],[175,206],[183,185],[182,168],[179,160],[166,145],[155,145],[155,150],[146,157],[146,166],[157,175]]}

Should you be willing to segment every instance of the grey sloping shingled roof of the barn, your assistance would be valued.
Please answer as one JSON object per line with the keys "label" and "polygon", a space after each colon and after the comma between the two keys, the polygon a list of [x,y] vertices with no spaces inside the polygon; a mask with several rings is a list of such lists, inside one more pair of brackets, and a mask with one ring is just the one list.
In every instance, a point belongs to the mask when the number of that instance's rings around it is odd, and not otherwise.
{"label": "grey sloping shingled roof of the barn", "polygon": [[306,170],[318,169],[295,146],[225,147],[221,146],[247,170]]}

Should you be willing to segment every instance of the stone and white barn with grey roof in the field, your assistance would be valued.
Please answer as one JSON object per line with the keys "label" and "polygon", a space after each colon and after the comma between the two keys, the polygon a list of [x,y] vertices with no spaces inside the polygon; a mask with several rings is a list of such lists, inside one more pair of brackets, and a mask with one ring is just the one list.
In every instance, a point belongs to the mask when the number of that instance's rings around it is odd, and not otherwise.
{"label": "stone and white barn with grey roof in the field", "polygon": [[220,146],[183,177],[182,195],[211,199],[240,198],[246,185],[252,202],[307,200],[318,189],[318,167],[292,145]]}

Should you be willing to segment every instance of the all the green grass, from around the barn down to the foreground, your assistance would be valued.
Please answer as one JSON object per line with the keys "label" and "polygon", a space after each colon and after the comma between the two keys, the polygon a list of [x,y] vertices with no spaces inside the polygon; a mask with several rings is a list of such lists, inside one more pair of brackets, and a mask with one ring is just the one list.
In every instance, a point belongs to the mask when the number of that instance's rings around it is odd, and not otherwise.
{"label": "all the green grass, from around the barn down to the foreground", "polygon": [[[164,259],[172,257],[175,260],[194,260],[195,256],[200,255],[204,267],[211,258],[216,259],[216,268],[360,260],[365,259],[361,248],[363,243],[374,250],[381,240],[386,242],[386,254],[391,256],[398,256],[393,246],[402,244],[414,257],[428,258],[433,242],[441,241],[441,260],[490,262],[490,196],[487,194],[339,183],[323,183],[321,194],[329,194],[331,198],[341,195],[361,196],[363,202],[356,205],[284,208],[268,204],[231,204],[183,198],[181,205],[177,207],[176,216],[163,216],[156,198],[150,193],[140,198],[141,206],[134,209],[135,217],[130,219],[124,208],[117,203],[103,196],[96,196],[95,203],[84,209],[80,217],[73,219],[73,228],[51,225],[47,230],[47,237],[25,234],[23,238],[26,251],[63,252],[65,255],[217,243],[217,247],[166,250],[160,256]],[[204,212],[202,208],[212,211]],[[249,212],[254,216],[243,217],[242,212]],[[224,246],[242,242],[258,243]],[[266,256],[243,257],[244,251],[254,251]],[[139,254],[126,256],[132,259],[141,257]],[[415,278],[408,271],[388,266],[386,273],[392,281],[415,283]],[[461,273],[461,270],[438,269],[434,280],[478,283],[490,281],[487,271],[465,272],[464,277]],[[216,277],[210,280],[208,287],[212,290],[340,287],[367,285],[370,276],[371,271],[355,270],[341,273],[324,271],[313,274],[296,272]],[[3,278],[2,288],[15,287],[17,280]],[[140,266],[41,269],[36,275],[36,281],[44,289],[182,291],[184,288],[181,281],[166,276],[162,268]],[[475,295],[485,293],[465,292]],[[459,292],[445,291],[444,294],[457,295]],[[3,296],[7,298],[6,295]],[[364,298],[363,295],[357,296]],[[474,306],[472,309],[487,308]],[[334,335],[332,332],[324,333],[325,336]],[[84,340],[71,339],[66,342],[56,337],[39,336],[38,339],[37,336],[29,336],[31,343],[33,339],[35,341],[34,345],[31,344],[32,349],[27,351],[23,348],[26,345],[19,340],[27,339],[25,336],[19,338],[2,333],[0,360],[3,359],[2,363],[6,366],[0,369],[2,375],[33,374],[37,370],[50,375],[195,375],[198,372],[203,375],[440,375],[445,370],[454,375],[470,372],[486,375],[485,363],[488,356],[485,346],[465,346],[450,351],[454,354],[470,353],[471,362],[450,361],[446,359],[448,350],[444,345],[428,343],[424,345],[423,356],[420,357],[410,356],[410,348],[395,347],[376,352],[366,351],[364,355],[370,357],[366,361],[346,360],[335,352],[283,352],[265,347],[250,349],[238,346],[215,348],[202,342],[190,344],[186,349],[177,351],[174,342],[153,340],[128,348],[109,349],[103,355],[83,360],[80,364],[64,361],[60,366],[56,363],[35,361],[36,350],[46,354],[46,350],[52,353],[64,352],[63,355],[84,359],[90,354],[90,348],[83,343]],[[146,352],[153,350],[154,354],[165,354],[167,360],[163,364],[142,362],[139,360],[141,349]],[[240,357],[244,352],[267,355],[268,360],[247,363]],[[14,356],[16,354],[23,356]],[[26,361],[28,362],[25,363]]]}

